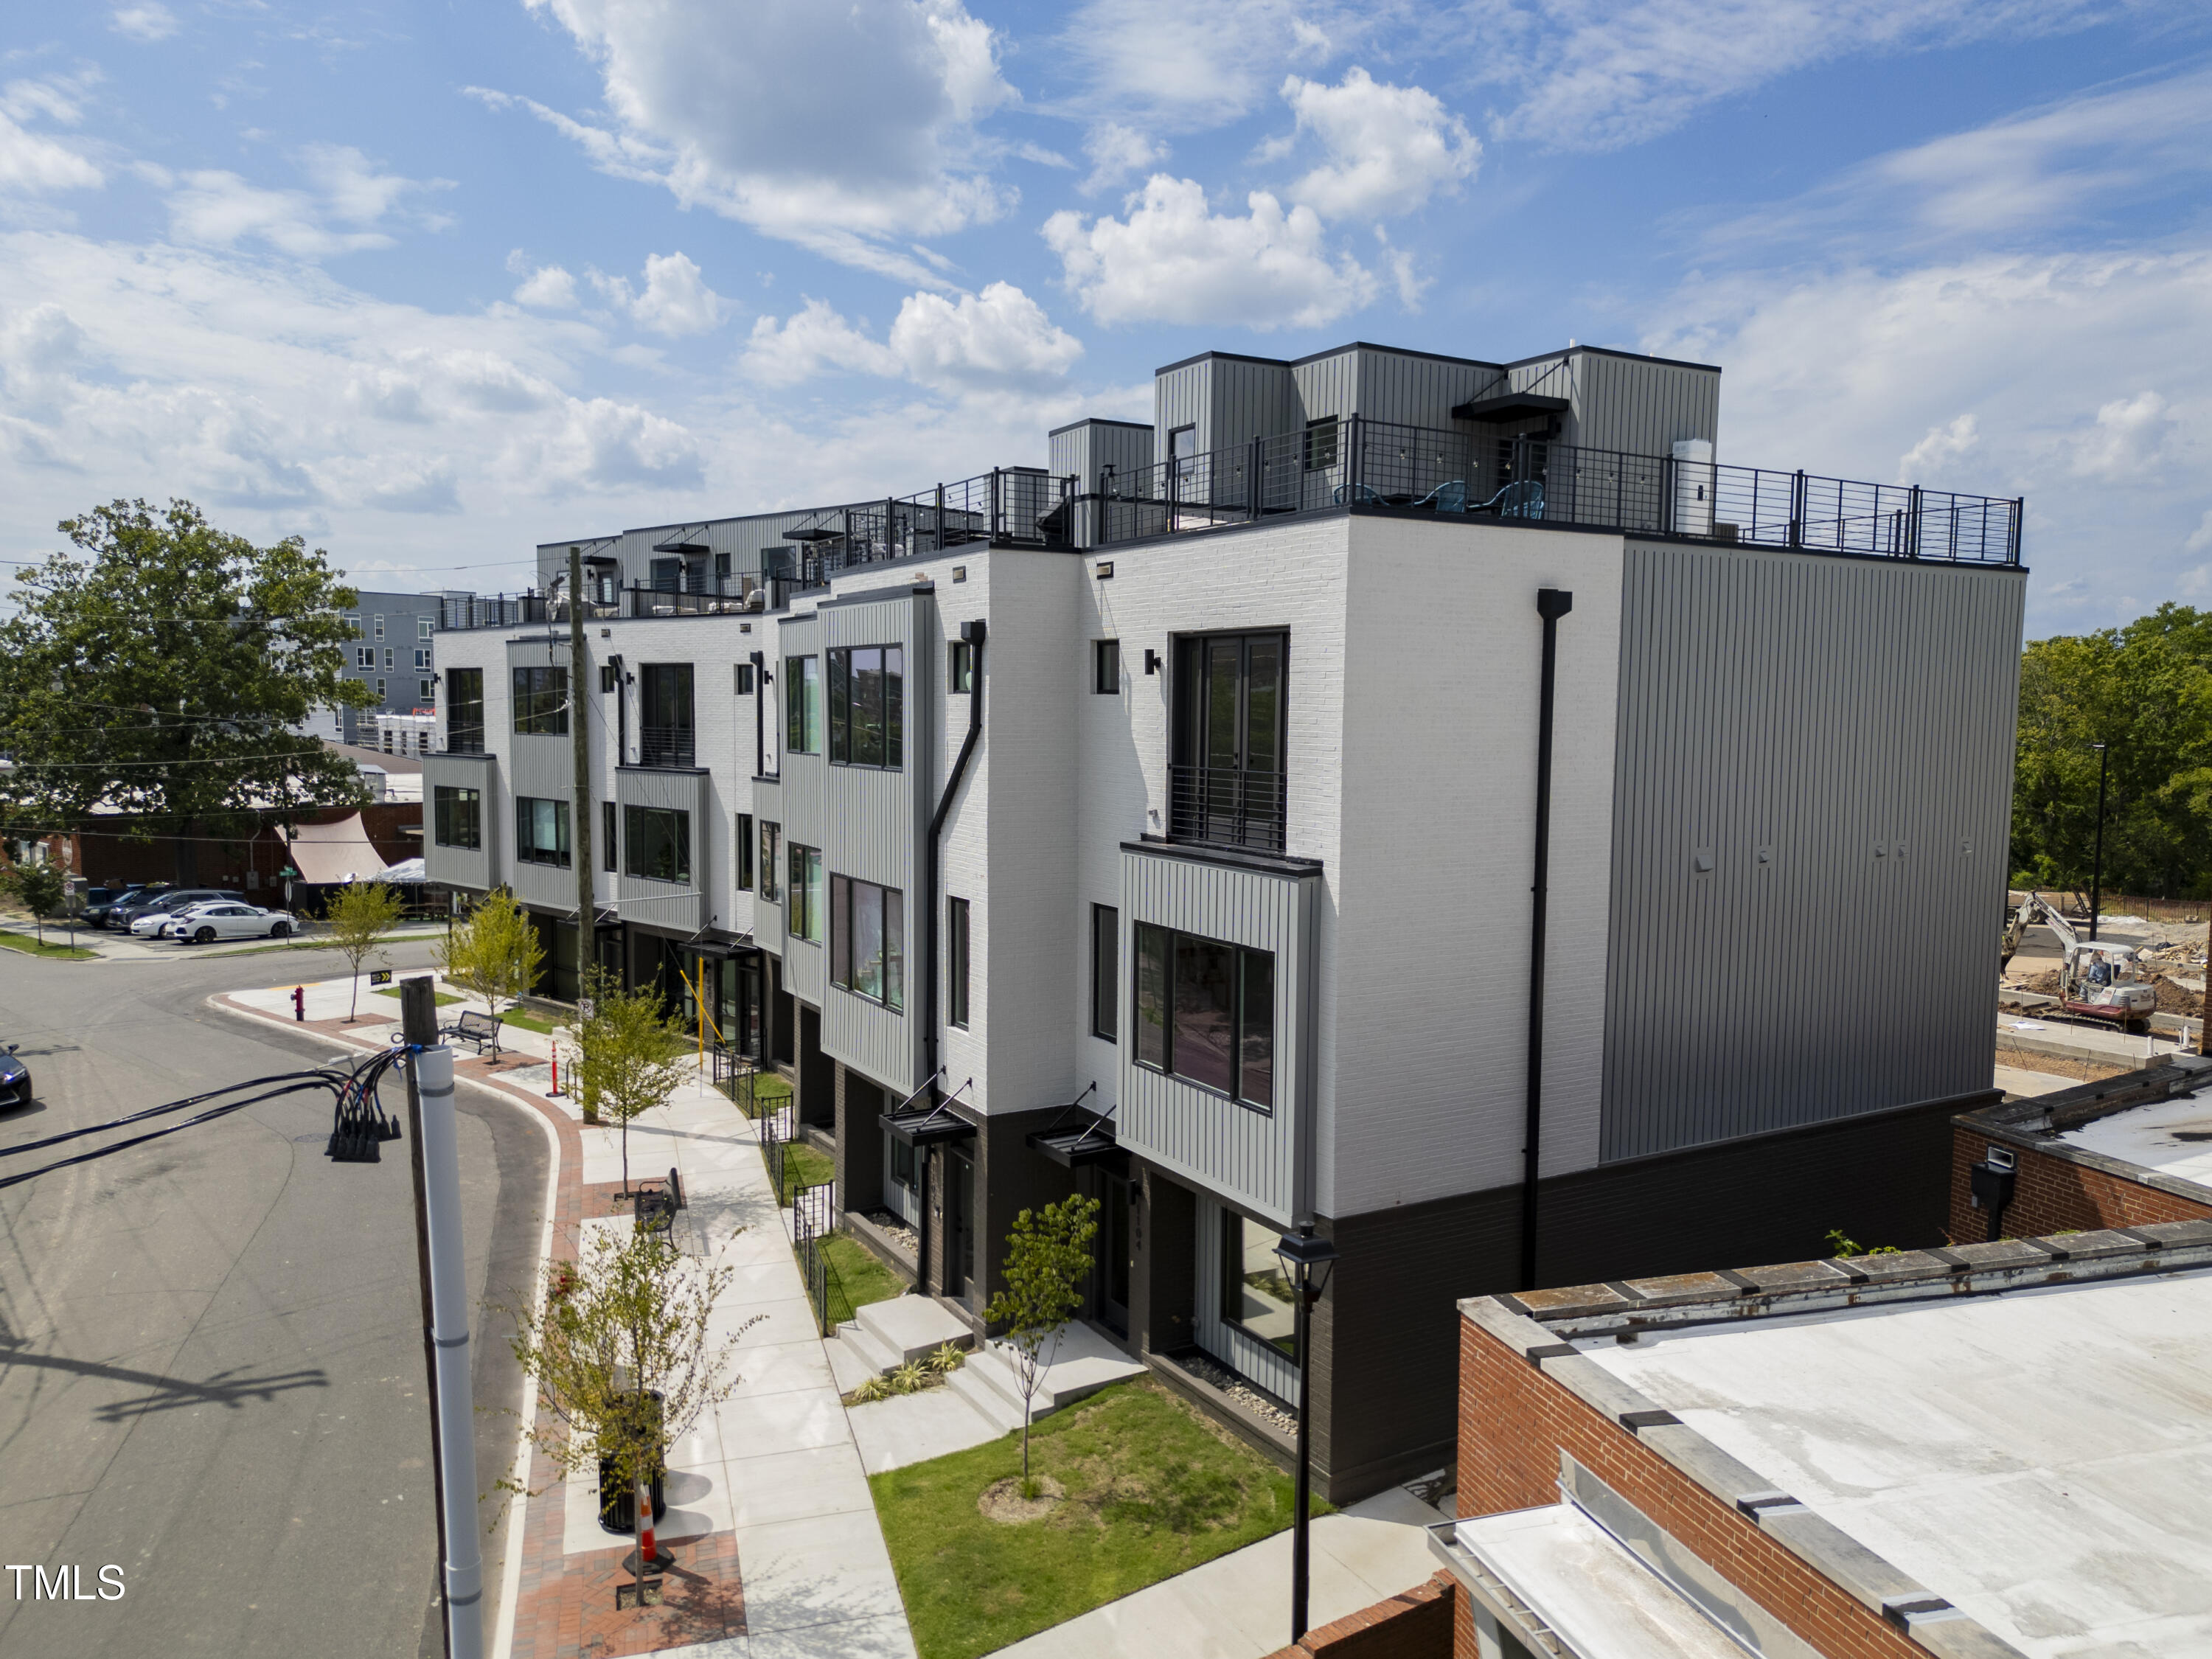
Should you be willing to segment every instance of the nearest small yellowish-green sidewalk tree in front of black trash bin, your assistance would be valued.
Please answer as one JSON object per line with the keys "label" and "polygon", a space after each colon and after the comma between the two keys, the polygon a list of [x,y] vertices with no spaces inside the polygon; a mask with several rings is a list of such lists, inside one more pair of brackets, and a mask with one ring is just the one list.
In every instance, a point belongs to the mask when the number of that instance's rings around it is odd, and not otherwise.
{"label": "nearest small yellowish-green sidewalk tree in front of black trash bin", "polygon": [[[540,1303],[515,1310],[509,1347],[538,1387],[529,1440],[557,1475],[604,1467],[635,1493],[639,1566],[668,1442],[737,1387],[732,1352],[757,1321],[719,1343],[708,1334],[730,1276],[721,1263],[686,1270],[661,1232],[595,1232],[577,1261],[546,1263]],[[500,1486],[529,1493],[513,1478]]]}

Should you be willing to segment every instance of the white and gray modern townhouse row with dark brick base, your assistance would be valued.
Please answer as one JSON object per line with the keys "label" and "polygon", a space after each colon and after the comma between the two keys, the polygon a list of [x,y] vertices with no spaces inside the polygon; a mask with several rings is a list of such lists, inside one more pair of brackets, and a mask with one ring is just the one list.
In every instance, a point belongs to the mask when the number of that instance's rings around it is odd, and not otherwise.
{"label": "white and gray modern townhouse row with dark brick base", "polygon": [[1933,1241],[1993,1097],[2020,502],[1723,465],[1719,380],[1208,354],[1042,469],[551,542],[445,606],[431,878],[573,995],[593,814],[588,949],[971,1321],[1088,1192],[1093,1323],[1290,1400],[1314,1223],[1325,1491],[1422,1473],[1455,1298]]}

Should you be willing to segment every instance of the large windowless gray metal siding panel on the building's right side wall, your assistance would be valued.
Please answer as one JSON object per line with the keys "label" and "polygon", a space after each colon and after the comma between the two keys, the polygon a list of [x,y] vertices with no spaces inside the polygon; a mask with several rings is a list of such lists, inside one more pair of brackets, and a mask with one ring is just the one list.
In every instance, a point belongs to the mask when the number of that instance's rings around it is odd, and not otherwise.
{"label": "large windowless gray metal siding panel on the building's right side wall", "polygon": [[1601,1157],[1989,1088],[2022,582],[1628,546]]}

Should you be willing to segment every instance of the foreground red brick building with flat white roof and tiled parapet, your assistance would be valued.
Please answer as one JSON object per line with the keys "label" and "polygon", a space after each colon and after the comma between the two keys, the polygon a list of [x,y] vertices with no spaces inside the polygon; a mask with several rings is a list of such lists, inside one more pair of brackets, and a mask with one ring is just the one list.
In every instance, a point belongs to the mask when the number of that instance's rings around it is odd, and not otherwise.
{"label": "foreground red brick building with flat white roof and tiled parapet", "polygon": [[2161,1221],[1460,1303],[1455,1659],[2203,1652],[2205,1267]]}

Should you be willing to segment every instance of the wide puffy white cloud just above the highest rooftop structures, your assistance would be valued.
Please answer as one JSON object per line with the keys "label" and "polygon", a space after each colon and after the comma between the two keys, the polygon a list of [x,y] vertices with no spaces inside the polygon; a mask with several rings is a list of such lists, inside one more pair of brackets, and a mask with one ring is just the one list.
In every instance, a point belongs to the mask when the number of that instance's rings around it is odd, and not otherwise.
{"label": "wide puffy white cloud just above the highest rooftop structures", "polygon": [[1194,179],[1155,173],[1124,219],[1044,221],[1066,285],[1102,323],[1241,323],[1314,327],[1367,305],[1376,276],[1332,252],[1321,217],[1254,190],[1248,212],[1217,215]]}

